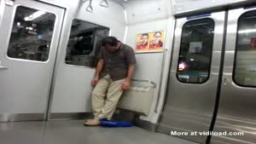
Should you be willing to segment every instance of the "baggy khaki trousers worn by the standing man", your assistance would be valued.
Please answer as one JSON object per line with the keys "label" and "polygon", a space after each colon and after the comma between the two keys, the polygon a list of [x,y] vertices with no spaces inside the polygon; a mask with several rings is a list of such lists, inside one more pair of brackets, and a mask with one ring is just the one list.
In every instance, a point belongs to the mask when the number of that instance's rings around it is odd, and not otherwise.
{"label": "baggy khaki trousers worn by the standing man", "polygon": [[112,81],[109,75],[101,78],[92,91],[92,108],[95,118],[110,120],[117,107],[120,96],[123,94],[125,79]]}

